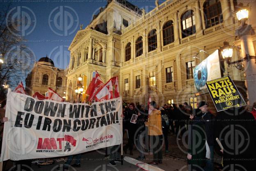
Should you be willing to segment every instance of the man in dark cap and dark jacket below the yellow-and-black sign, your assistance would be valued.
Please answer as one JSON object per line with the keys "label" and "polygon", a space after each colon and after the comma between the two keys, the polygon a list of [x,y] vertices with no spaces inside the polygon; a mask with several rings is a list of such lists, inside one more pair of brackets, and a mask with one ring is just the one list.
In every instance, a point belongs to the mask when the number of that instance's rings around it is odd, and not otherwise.
{"label": "man in dark cap and dark jacket below the yellow-and-black sign", "polygon": [[215,143],[213,115],[210,112],[208,112],[208,105],[205,101],[201,101],[198,104],[198,109],[200,109],[200,111],[198,111],[197,114],[202,114],[202,118],[205,125],[205,131],[206,131],[206,141],[210,148],[210,159],[206,161],[206,167],[204,168],[204,170],[213,171],[214,170],[213,154],[214,154],[214,143]]}

